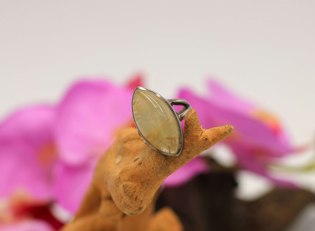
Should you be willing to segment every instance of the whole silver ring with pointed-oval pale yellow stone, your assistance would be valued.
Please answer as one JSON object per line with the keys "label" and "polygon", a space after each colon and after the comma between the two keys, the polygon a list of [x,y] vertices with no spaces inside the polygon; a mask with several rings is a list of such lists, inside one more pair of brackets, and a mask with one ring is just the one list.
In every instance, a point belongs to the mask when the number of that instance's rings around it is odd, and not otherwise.
{"label": "whole silver ring with pointed-oval pale yellow stone", "polygon": [[[179,113],[173,105],[184,106]],[[165,99],[156,92],[136,87],[132,96],[132,116],[143,140],[156,151],[178,156],[183,147],[181,123],[192,107],[184,99]]]}

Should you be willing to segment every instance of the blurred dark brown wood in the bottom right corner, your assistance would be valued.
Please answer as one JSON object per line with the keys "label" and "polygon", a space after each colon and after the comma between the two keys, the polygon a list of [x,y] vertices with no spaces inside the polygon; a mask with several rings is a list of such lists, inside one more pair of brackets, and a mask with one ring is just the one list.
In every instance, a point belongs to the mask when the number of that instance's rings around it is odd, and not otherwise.
{"label": "blurred dark brown wood in the bottom right corner", "polygon": [[237,200],[235,211],[238,225],[235,230],[287,230],[300,212],[314,202],[315,195],[308,190],[282,187],[276,187],[254,201]]}

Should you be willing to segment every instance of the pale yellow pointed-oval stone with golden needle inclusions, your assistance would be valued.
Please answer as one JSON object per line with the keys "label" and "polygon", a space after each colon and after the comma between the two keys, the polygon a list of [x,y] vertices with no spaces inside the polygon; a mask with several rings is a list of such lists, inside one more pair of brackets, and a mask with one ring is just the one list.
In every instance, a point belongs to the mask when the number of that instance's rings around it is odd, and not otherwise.
{"label": "pale yellow pointed-oval stone with golden needle inclusions", "polygon": [[174,112],[152,92],[136,89],[133,113],[142,136],[156,149],[175,155],[180,148],[180,131]]}

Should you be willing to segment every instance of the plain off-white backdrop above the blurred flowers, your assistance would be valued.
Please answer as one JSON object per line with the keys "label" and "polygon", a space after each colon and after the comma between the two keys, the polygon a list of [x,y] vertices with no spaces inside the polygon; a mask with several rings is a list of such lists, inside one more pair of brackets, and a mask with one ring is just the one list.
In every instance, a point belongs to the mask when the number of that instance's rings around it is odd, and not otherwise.
{"label": "plain off-white backdrop above the blurred flowers", "polygon": [[0,118],[58,102],[104,74],[173,98],[223,84],[278,115],[293,142],[315,134],[315,1],[0,0]]}

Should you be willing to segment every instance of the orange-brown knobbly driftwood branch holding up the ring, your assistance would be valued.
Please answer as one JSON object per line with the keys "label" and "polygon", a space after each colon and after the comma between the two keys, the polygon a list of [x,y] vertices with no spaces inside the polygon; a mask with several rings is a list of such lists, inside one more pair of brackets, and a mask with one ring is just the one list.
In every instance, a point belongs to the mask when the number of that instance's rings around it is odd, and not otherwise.
{"label": "orange-brown knobbly driftwood branch holding up the ring", "polygon": [[[137,230],[151,230],[153,198],[165,178],[233,130],[231,125],[203,129],[192,109],[185,120],[183,149],[177,157],[153,150],[135,128],[123,130],[101,157],[75,219],[63,231],[134,230],[131,225],[122,229],[130,219],[141,226]],[[169,217],[178,221],[174,212],[169,212]]]}

